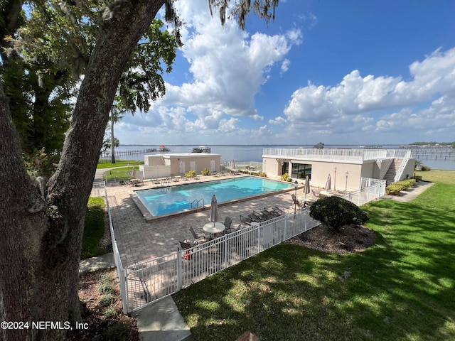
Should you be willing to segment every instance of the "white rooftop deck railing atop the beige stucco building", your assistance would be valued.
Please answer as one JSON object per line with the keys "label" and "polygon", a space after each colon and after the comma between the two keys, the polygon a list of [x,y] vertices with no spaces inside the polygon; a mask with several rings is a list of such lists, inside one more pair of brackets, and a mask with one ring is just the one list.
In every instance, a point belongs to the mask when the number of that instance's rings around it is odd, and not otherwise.
{"label": "white rooftop deck railing atop the beige stucco building", "polygon": [[328,161],[368,161],[405,158],[410,155],[411,151],[405,149],[264,148],[262,151],[263,158],[309,158]]}

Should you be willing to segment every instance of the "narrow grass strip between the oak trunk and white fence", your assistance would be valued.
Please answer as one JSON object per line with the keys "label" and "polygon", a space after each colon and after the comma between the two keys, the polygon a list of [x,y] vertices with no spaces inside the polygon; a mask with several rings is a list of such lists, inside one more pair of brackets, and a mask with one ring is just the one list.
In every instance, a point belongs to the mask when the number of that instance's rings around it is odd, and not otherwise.
{"label": "narrow grass strip between the oak trunk and white fence", "polygon": [[105,233],[105,200],[102,197],[90,197],[85,216],[84,236],[80,259],[100,256],[106,249],[100,245]]}

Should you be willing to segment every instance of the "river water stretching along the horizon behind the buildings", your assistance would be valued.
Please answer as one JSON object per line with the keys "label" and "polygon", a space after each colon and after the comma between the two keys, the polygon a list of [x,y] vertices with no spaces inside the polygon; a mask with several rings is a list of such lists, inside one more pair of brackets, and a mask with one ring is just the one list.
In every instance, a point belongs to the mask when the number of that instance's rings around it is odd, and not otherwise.
{"label": "river water stretching along the horizon behind the buildings", "polygon": [[[126,153],[127,151],[144,151],[149,148],[158,148],[159,146],[136,146],[127,145],[115,148],[117,160],[140,160],[144,161],[144,156],[155,153]],[[196,146],[188,145],[166,145],[170,148],[170,153],[190,153],[191,149]],[[262,151],[264,148],[313,148],[313,145],[210,145],[212,153],[220,154],[221,161],[235,161],[235,162],[262,162]],[[352,148],[358,149],[358,145],[325,145],[325,148]],[[398,149],[397,145],[383,145],[385,149]],[[403,147],[401,147],[403,148]],[[406,148],[406,147],[405,147]],[[449,149],[447,149],[449,150]],[[412,150],[412,156],[417,156],[417,159],[422,161],[424,166],[429,166],[432,169],[447,169],[455,171],[455,151],[441,153],[441,151],[434,151],[433,149],[419,148]],[[106,158],[110,159],[110,156]]]}

